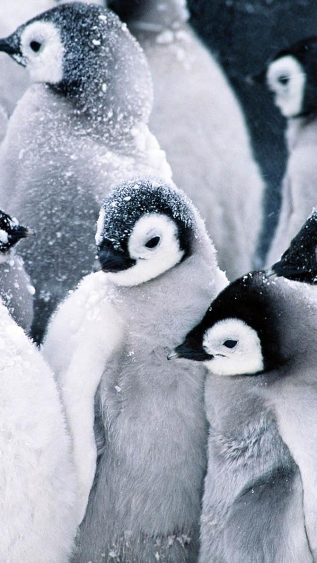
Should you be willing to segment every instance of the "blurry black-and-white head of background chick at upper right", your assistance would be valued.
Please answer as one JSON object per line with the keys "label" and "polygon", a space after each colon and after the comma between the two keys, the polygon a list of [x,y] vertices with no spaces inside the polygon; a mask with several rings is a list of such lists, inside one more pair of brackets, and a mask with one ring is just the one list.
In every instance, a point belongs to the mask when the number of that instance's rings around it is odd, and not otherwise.
{"label": "blurry black-and-white head of background chick at upper right", "polygon": [[280,51],[269,63],[266,83],[284,117],[306,117],[317,110],[317,37]]}

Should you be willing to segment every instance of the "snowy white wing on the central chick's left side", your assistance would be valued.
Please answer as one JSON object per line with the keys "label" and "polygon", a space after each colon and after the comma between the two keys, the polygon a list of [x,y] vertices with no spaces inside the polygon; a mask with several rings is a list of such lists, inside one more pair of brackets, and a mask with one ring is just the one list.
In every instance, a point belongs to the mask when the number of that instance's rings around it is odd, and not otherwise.
{"label": "snowy white wing on the central chick's left side", "polygon": [[82,517],[96,471],[95,394],[123,337],[123,324],[104,272],[86,276],[48,325],[44,358],[60,387],[78,476]]}

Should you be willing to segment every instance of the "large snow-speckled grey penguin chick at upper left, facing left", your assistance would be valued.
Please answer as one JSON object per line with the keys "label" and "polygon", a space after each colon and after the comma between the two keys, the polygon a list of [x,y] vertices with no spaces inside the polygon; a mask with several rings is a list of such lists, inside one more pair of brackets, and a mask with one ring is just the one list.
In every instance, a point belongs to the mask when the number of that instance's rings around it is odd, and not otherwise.
{"label": "large snow-speckled grey penguin chick at upper left, facing left", "polygon": [[0,51],[35,82],[1,146],[0,201],[37,231],[23,257],[39,342],[56,304],[92,270],[94,225],[110,187],[134,173],[170,178],[171,170],[146,125],[144,53],[113,12],[60,5],[2,39]]}

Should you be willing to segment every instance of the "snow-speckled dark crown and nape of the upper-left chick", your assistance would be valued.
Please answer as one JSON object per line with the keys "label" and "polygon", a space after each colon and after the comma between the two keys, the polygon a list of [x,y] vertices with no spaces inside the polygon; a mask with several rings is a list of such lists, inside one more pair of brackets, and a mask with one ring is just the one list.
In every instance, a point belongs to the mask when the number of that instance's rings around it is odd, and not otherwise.
{"label": "snow-speckled dark crown and nape of the upper-left chick", "polygon": [[54,83],[94,119],[120,121],[132,127],[147,121],[152,105],[148,62],[139,43],[117,15],[93,4],[59,5],[17,29],[21,37],[28,25],[55,26],[64,56],[62,79]]}

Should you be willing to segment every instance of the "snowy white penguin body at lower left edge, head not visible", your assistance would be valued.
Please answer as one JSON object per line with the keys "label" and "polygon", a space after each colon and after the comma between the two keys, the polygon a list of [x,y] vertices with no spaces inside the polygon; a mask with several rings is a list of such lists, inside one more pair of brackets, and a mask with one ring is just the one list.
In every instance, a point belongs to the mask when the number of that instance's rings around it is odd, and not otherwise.
{"label": "snowy white penguin body at lower left edge, head not visible", "polygon": [[1,301],[0,372],[0,561],[65,563],[79,512],[59,392]]}

